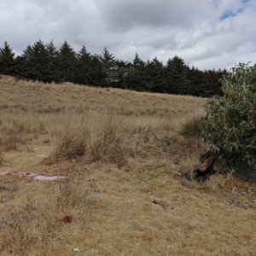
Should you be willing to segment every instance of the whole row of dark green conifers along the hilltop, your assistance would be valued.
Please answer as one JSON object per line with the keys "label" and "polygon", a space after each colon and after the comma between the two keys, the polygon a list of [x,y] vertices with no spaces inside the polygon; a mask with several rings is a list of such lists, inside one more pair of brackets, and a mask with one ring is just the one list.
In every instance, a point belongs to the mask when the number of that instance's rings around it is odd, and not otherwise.
{"label": "whole row of dark green conifers along the hilltop", "polygon": [[179,56],[166,65],[154,57],[142,61],[135,53],[133,61],[117,60],[108,49],[91,55],[83,45],[79,52],[65,41],[59,48],[53,41],[38,40],[21,55],[5,41],[0,48],[0,74],[44,83],[72,82],[97,87],[114,87],[137,91],[209,97],[221,95],[219,79],[226,69],[201,71],[189,67]]}

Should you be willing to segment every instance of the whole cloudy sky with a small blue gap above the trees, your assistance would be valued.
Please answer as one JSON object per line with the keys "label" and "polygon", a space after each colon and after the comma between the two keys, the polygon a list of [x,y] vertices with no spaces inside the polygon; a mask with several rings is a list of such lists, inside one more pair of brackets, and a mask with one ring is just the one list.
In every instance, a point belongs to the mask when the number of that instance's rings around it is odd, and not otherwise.
{"label": "whole cloudy sky with a small blue gap above the trees", "polygon": [[0,0],[0,47],[20,55],[38,39],[65,40],[90,54],[107,47],[123,61],[135,53],[166,64],[230,68],[256,62],[256,0]]}

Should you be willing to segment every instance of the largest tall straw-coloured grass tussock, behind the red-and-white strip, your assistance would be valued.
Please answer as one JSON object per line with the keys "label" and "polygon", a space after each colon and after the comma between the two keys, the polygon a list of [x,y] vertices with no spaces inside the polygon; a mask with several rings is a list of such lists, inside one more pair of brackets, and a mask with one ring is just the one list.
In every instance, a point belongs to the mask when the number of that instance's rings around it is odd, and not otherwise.
{"label": "largest tall straw-coloured grass tussock, behind the red-and-white strip", "polygon": [[85,156],[88,161],[125,165],[125,122],[116,114],[90,110],[60,113],[49,128],[54,158]]}

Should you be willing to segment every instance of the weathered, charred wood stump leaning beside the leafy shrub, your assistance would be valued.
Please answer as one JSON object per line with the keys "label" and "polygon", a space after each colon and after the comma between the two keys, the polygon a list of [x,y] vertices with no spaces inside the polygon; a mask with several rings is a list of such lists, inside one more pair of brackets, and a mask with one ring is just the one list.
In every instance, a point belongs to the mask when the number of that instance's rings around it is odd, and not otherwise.
{"label": "weathered, charred wood stump leaning beside the leafy shrub", "polygon": [[218,156],[223,154],[223,149],[212,144],[209,150],[201,157],[201,166],[196,166],[193,170],[194,179],[198,181],[205,181],[209,176],[216,173],[213,170],[214,162],[217,160]]}

